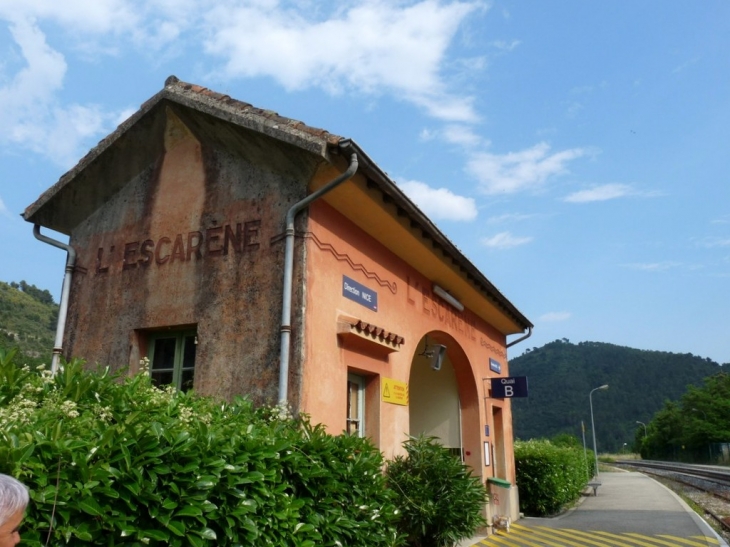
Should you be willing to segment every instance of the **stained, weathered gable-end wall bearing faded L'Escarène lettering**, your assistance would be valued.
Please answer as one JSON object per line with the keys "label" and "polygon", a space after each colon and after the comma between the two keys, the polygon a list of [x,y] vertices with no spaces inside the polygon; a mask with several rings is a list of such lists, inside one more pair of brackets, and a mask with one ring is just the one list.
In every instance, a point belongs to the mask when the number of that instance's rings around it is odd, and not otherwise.
{"label": "stained, weathered gable-end wall bearing faded L'Escar\u00e8ne lettering", "polygon": [[[134,368],[146,332],[195,326],[196,391],[275,401],[284,251],[277,236],[322,160],[220,129],[168,107],[164,155],[74,230],[65,354]],[[298,244],[298,275],[302,252]]]}

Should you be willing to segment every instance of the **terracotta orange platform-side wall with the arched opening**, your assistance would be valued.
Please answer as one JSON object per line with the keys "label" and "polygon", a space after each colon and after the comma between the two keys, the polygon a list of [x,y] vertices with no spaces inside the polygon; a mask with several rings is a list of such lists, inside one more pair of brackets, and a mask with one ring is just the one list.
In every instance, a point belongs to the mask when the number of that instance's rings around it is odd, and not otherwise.
{"label": "terracotta orange platform-side wall with the arched opening", "polygon": [[[508,374],[505,337],[468,310],[458,313],[438,297],[431,295],[431,282],[398,256],[360,230],[323,201],[310,208],[309,232],[306,235],[306,332],[301,401],[302,408],[315,422],[323,423],[331,433],[345,429],[346,377],[350,370],[409,381],[410,366],[419,341],[425,336],[447,343],[452,361],[457,361],[457,380],[462,396],[464,423],[472,416],[470,431],[464,431],[464,446],[470,450],[467,462],[481,469],[484,476],[484,425],[491,422],[491,407],[503,408],[507,461],[512,457],[511,413],[508,402],[485,402],[483,378],[489,371],[489,358],[502,364]],[[378,311],[372,311],[342,296],[342,276],[346,275],[378,294]],[[383,357],[371,357],[350,350],[337,336],[341,317],[354,317],[405,338],[400,351]],[[455,347],[456,344],[456,347]],[[459,353],[463,353],[459,366]],[[455,359],[454,356],[457,356]],[[470,363],[471,365],[469,365]],[[472,397],[464,397],[471,390]],[[475,393],[474,393],[475,392]],[[379,448],[386,457],[401,452],[409,429],[408,407],[380,402]],[[475,426],[476,420],[479,425]],[[473,429],[478,427],[478,431]],[[467,446],[468,443],[468,446]],[[513,470],[508,469],[512,480]]]}

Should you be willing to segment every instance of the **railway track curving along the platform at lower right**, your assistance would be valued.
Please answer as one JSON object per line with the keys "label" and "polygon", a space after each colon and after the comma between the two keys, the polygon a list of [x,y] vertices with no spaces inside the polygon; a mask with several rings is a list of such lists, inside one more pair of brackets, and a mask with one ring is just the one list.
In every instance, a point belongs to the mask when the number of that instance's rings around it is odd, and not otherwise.
{"label": "railway track curving along the platform at lower right", "polygon": [[676,484],[672,489],[698,505],[720,526],[725,539],[730,539],[730,468],[643,460],[620,460],[616,464]]}

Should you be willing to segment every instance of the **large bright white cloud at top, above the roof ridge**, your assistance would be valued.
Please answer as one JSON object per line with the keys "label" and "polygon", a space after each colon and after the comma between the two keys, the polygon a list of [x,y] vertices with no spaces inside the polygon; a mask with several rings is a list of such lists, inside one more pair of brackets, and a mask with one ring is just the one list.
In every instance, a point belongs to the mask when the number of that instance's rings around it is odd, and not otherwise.
{"label": "large bright white cloud at top, above the roof ridge", "polygon": [[[206,52],[228,77],[268,76],[289,90],[388,90],[439,119],[473,121],[473,98],[452,94],[440,71],[446,50],[477,2],[363,2],[331,19],[275,0],[219,5],[205,16]],[[316,10],[315,10],[316,12]]]}

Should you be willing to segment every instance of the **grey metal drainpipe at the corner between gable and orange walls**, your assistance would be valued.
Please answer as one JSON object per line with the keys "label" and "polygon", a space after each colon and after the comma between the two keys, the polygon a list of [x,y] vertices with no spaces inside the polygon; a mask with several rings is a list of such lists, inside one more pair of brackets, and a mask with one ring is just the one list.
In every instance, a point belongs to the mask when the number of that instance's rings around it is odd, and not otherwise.
{"label": "grey metal drainpipe at the corner between gable and orange walls", "polygon": [[[339,143],[340,149],[351,147],[350,139],[343,139]],[[286,405],[289,399],[289,344],[291,340],[291,301],[292,276],[294,272],[294,217],[313,201],[319,199],[330,190],[352,178],[357,171],[357,154],[350,153],[350,166],[337,178],[325,186],[309,194],[306,198],[295,203],[286,214],[286,244],[284,247],[284,295],[281,305],[281,356],[279,361],[279,404]]]}

